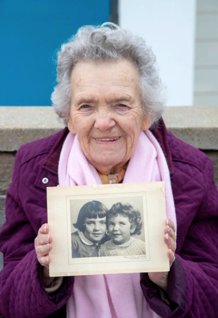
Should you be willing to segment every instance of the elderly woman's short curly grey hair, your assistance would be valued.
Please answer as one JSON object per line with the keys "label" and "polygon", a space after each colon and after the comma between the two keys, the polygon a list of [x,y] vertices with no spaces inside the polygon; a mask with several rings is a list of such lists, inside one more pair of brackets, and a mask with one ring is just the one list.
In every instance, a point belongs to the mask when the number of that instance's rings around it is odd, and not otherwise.
{"label": "elderly woman's short curly grey hair", "polygon": [[165,88],[159,78],[156,57],[143,38],[110,22],[83,26],[61,45],[57,60],[57,82],[51,96],[53,107],[67,124],[71,106],[71,73],[79,62],[107,62],[127,59],[138,69],[139,88],[145,116],[152,123],[164,110]]}

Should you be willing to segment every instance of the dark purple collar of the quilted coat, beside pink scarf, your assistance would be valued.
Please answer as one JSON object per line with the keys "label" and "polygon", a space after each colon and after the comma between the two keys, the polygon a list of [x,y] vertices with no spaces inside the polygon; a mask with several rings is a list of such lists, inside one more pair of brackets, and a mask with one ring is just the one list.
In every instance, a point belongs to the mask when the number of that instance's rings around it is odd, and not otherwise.
{"label": "dark purple collar of the quilted coat, beside pink scarf", "polygon": [[[167,140],[167,129],[163,119],[160,118],[157,126],[155,128],[150,128],[150,130],[152,134],[155,136],[155,138],[157,139],[157,141],[159,142],[161,149],[163,150],[163,153],[165,155],[166,162],[170,171],[170,175],[172,176],[174,172],[172,156],[171,156],[171,151],[170,151],[168,140]],[[69,133],[69,130],[67,127],[65,127],[62,130],[60,137],[55,142],[53,148],[51,149],[49,154],[46,156],[43,166],[47,170],[52,171],[54,173],[58,173],[58,163],[60,158],[60,152],[68,133]]]}

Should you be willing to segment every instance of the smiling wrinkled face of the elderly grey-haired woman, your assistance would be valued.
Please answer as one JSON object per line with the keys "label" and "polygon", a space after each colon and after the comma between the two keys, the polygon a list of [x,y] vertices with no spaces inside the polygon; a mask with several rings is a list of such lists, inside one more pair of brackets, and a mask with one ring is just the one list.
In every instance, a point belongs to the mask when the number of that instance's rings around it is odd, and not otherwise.
{"label": "smiling wrinkled face of the elderly grey-haired woman", "polygon": [[130,159],[144,116],[136,67],[128,60],[78,63],[72,71],[68,128],[100,172],[116,173]]}

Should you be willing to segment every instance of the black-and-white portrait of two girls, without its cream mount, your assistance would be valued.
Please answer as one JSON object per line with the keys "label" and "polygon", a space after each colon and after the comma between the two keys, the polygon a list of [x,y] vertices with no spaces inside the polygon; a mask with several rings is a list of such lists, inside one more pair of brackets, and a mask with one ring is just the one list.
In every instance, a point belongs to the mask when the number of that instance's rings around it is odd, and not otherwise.
{"label": "black-and-white portrait of two girls, without its cream mount", "polygon": [[142,196],[69,204],[73,258],[146,254]]}

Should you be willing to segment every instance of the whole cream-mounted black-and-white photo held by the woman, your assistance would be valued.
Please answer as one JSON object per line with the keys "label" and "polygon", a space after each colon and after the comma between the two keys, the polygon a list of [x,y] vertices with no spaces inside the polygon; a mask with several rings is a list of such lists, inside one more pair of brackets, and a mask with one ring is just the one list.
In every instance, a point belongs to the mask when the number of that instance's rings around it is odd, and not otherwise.
{"label": "whole cream-mounted black-and-white photo held by the woman", "polygon": [[164,182],[47,188],[50,276],[167,271]]}

